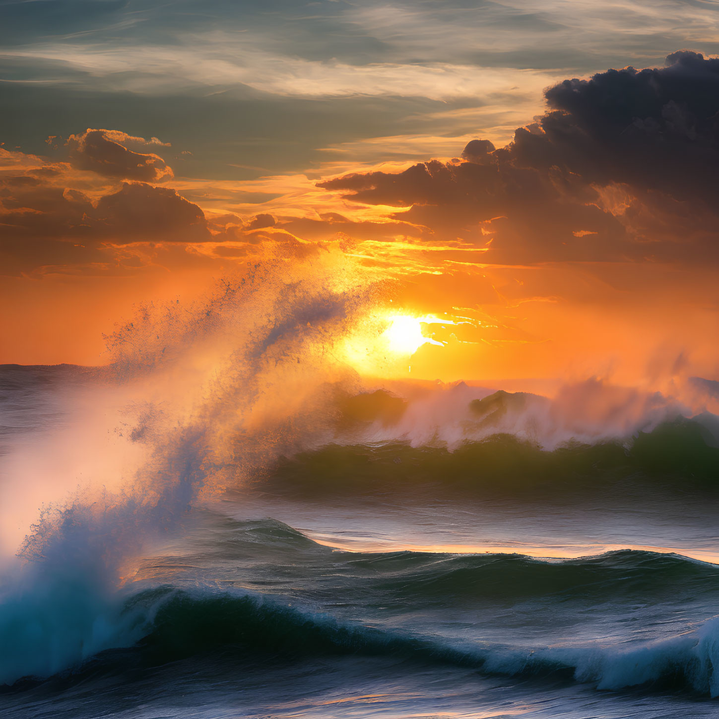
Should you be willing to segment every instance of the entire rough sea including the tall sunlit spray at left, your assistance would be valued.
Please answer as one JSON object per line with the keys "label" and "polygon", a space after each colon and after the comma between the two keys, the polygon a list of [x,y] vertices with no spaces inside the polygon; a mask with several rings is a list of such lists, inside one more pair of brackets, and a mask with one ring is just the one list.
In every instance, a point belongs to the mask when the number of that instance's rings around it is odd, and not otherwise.
{"label": "entire rough sea including the tall sunlit spray at left", "polygon": [[[141,308],[106,367],[0,370],[8,715],[121,715],[122,686],[207,716],[333,716],[339,696],[459,716],[482,692],[487,711],[710,715],[711,381],[400,380],[390,294],[328,252]],[[93,682],[102,714],[78,708]]]}

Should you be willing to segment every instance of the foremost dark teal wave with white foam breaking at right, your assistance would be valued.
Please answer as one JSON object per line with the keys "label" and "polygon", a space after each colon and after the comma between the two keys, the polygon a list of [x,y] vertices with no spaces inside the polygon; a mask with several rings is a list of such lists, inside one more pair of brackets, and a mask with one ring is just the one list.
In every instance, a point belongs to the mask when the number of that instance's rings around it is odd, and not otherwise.
{"label": "foremost dark teal wave with white foam breaking at right", "polygon": [[[719,694],[719,620],[662,641],[602,646],[500,646],[436,638],[342,623],[251,595],[187,592],[168,587],[132,597],[126,610],[145,611],[148,631],[127,651],[106,651],[87,662],[76,681],[91,672],[153,667],[170,661],[221,654],[224,661],[260,663],[318,656],[393,656],[423,663],[473,667],[482,674],[563,676],[599,689],[643,686]],[[28,679],[16,689],[31,685]]]}

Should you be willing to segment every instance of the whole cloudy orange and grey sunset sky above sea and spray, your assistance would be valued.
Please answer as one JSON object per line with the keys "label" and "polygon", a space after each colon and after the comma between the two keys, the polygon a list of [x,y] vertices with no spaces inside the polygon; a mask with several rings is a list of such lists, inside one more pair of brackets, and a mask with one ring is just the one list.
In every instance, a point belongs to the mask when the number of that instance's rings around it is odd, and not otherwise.
{"label": "whole cloudy orange and grey sunset sky above sea and spray", "polygon": [[0,362],[340,252],[416,377],[718,374],[718,1],[0,12]]}

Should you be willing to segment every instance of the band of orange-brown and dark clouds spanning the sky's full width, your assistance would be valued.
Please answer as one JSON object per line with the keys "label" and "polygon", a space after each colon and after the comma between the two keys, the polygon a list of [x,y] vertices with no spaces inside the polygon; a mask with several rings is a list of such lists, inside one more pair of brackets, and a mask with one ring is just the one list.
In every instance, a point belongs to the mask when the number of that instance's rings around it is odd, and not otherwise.
{"label": "band of orange-brown and dark clouds spanning the sky's full width", "polygon": [[168,144],[120,130],[71,134],[61,162],[0,150],[6,273],[138,242],[227,242],[215,255],[228,258],[278,239],[439,243],[490,265],[719,260],[719,60],[682,50],[661,68],[569,79],[545,95],[545,113],[505,147],[479,138],[449,161],[318,183],[338,209],[374,208],[372,219],[207,216],[198,193],[157,186],[173,179],[158,154]]}

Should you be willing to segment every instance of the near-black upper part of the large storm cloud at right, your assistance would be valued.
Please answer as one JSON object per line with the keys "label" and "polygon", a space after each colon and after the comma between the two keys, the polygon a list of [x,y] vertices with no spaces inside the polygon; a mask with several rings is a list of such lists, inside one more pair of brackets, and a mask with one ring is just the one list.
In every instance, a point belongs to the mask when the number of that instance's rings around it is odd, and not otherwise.
{"label": "near-black upper part of the large storm cloud at right", "polygon": [[518,130],[518,165],[559,165],[590,183],[628,183],[715,203],[719,60],[674,52],[665,68],[609,70],[546,91],[542,134]]}

